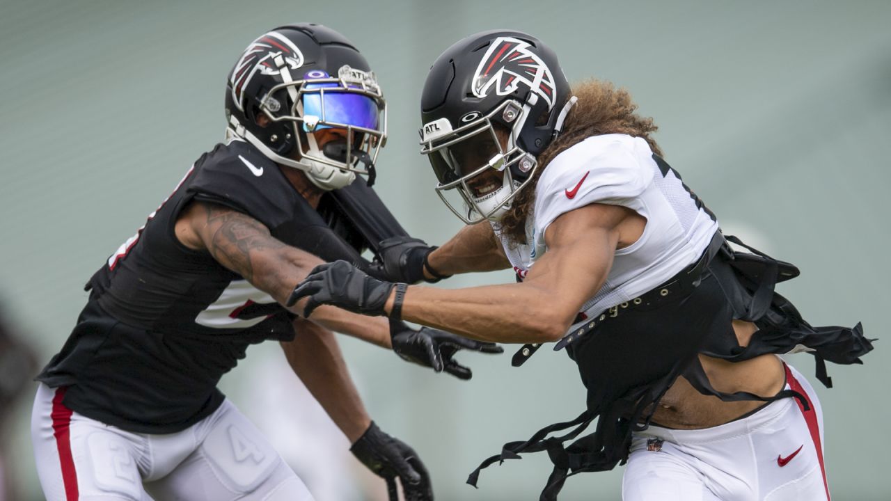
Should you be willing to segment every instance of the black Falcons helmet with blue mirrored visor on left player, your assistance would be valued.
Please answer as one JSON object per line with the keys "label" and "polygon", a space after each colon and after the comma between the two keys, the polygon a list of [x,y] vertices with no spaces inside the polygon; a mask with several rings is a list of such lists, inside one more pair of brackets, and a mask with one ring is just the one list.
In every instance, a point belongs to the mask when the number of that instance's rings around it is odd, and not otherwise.
{"label": "black Falcons helmet with blue mirrored visor on left player", "polygon": [[[226,136],[299,168],[324,190],[356,174],[373,183],[387,139],[387,104],[364,56],[346,37],[314,23],[273,29],[248,45],[226,81]],[[260,127],[257,118],[270,122]],[[315,131],[347,130],[320,149]],[[363,167],[364,166],[364,167]]]}

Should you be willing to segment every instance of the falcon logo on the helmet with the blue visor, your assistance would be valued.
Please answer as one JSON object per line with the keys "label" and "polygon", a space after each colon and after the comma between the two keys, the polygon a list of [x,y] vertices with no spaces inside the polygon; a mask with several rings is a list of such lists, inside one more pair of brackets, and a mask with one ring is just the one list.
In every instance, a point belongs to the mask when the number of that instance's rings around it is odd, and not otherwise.
{"label": "falcon logo on the helmet with the blue visor", "polygon": [[229,76],[233,101],[238,109],[244,111],[244,103],[241,101],[244,87],[248,86],[257,71],[264,75],[278,75],[282,66],[287,66],[290,70],[303,66],[303,53],[288,37],[270,31],[248,45]]}

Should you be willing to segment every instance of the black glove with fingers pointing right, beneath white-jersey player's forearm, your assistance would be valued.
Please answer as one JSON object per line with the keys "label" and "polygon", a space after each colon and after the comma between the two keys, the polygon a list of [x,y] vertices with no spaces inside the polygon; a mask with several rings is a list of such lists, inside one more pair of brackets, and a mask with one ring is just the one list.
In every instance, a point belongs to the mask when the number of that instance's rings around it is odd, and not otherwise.
{"label": "black glove with fingers pointing right, beneath white-jersey player's forearm", "polygon": [[446,371],[459,379],[470,379],[470,368],[453,358],[460,349],[472,349],[482,353],[503,353],[504,349],[494,342],[474,341],[457,334],[446,333],[429,327],[415,331],[401,320],[390,319],[390,341],[393,351],[404,360],[432,367],[434,371]]}

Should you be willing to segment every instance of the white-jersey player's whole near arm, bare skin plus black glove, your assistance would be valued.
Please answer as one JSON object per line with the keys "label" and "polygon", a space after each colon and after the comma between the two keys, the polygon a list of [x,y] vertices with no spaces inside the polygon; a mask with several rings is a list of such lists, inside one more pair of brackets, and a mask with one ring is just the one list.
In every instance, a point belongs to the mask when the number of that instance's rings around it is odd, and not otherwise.
{"label": "white-jersey player's whole near arm, bare skin plus black glove", "polygon": [[[556,341],[579,308],[600,290],[616,249],[635,242],[646,220],[630,209],[593,203],[557,218],[544,239],[548,251],[522,283],[445,290],[410,286],[401,318],[483,341]],[[370,282],[371,281],[371,282]],[[391,314],[387,300],[366,291],[386,287],[346,261],[323,265],[291,294],[307,308],[333,304],[366,315]]]}

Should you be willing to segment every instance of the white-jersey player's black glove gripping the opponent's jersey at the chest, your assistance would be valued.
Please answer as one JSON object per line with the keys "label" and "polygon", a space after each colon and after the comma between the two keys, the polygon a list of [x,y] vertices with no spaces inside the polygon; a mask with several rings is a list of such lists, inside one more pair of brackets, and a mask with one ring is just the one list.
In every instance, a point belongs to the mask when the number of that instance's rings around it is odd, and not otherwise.
{"label": "white-jersey player's black glove gripping the opponent's jersey at the chest", "polygon": [[[380,242],[378,259],[372,262],[369,275],[390,282],[429,283],[439,282],[440,278],[428,280],[424,276],[424,261],[436,247],[409,236],[394,236]],[[428,271],[432,271],[428,268]],[[443,276],[441,278],[446,278]]]}

